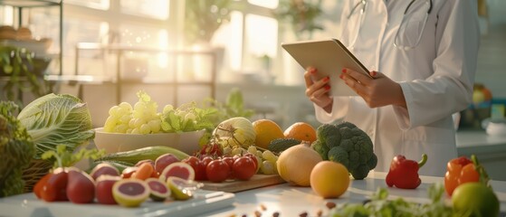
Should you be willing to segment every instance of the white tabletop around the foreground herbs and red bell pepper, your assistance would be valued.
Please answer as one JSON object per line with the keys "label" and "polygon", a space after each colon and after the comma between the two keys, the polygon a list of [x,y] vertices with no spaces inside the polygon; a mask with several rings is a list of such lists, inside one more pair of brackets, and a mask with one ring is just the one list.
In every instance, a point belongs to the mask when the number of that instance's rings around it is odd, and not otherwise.
{"label": "white tabletop around the foreground herbs and red bell pepper", "polygon": [[[386,173],[371,172],[364,180],[352,180],[348,191],[339,199],[323,199],[310,187],[297,187],[289,184],[253,189],[235,193],[235,202],[232,207],[206,213],[205,216],[243,216],[243,214],[255,216],[255,212],[260,212],[262,216],[272,216],[274,212],[279,212],[280,216],[299,216],[302,212],[307,212],[308,216],[317,216],[319,211],[325,215],[329,214],[326,203],[362,203],[379,187],[387,188],[391,198],[402,196],[406,201],[427,203],[430,202],[427,196],[430,184],[443,184],[442,177],[421,176],[422,184],[414,190],[388,188],[385,177]],[[501,212],[505,212],[506,182],[492,181],[492,187],[501,201]],[[449,199],[447,196],[446,198]]]}

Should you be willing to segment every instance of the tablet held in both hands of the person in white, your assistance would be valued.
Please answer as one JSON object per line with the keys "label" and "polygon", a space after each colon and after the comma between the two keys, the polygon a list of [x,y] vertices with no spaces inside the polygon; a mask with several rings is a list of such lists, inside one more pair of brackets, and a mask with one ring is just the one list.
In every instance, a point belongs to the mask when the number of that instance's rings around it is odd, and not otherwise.
{"label": "tablet held in both hands of the person in white", "polygon": [[372,78],[368,69],[337,39],[283,42],[282,48],[290,53],[302,68],[318,69],[318,80],[329,76],[331,96],[357,95],[343,80],[339,79],[343,68],[362,72]]}

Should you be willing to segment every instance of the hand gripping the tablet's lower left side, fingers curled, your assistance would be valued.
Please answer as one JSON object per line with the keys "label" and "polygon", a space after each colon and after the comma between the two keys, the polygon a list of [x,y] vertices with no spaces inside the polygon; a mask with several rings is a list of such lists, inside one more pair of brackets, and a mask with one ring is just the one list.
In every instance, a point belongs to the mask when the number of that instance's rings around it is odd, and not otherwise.
{"label": "hand gripping the tablet's lower left side, fingers curled", "polygon": [[304,72],[304,80],[306,80],[306,96],[314,104],[327,112],[330,112],[332,110],[333,99],[329,97],[329,77],[313,81],[316,73],[318,73],[318,71],[314,68],[308,68]]}

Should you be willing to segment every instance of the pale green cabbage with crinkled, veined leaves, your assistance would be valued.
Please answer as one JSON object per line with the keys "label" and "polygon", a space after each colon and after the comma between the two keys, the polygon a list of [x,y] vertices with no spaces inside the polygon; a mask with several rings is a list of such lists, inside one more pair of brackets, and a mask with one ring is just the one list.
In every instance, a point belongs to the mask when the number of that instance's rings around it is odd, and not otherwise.
{"label": "pale green cabbage with crinkled, veined leaves", "polygon": [[37,159],[48,150],[56,151],[58,145],[72,151],[95,137],[88,107],[68,94],[50,93],[35,99],[17,118],[36,145]]}

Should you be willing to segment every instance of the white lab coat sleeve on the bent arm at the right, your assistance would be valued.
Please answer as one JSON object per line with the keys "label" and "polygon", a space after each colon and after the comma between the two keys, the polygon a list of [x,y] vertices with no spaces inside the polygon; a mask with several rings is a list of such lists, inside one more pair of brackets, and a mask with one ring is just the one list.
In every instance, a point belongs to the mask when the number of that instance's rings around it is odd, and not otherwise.
{"label": "white lab coat sleeve on the bent arm at the right", "polygon": [[424,126],[465,109],[473,99],[480,30],[476,1],[449,0],[438,11],[434,74],[400,82],[407,110],[394,107],[402,129]]}

